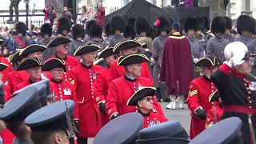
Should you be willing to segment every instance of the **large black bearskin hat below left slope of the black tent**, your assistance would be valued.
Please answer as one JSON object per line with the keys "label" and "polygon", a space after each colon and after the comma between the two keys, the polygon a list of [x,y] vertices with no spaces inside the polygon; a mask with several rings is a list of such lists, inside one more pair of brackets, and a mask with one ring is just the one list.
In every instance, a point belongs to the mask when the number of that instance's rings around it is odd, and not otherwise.
{"label": "large black bearskin hat below left slope of the black tent", "polygon": [[125,21],[121,16],[114,16],[113,18],[111,18],[110,30],[112,34],[114,34],[115,30],[120,30],[122,33],[125,30],[125,27],[126,27]]}

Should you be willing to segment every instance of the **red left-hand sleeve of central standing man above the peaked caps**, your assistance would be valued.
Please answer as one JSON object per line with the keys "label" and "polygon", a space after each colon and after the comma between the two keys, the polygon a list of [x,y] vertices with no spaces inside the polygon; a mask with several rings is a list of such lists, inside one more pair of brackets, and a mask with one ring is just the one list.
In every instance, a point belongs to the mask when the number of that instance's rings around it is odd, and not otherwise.
{"label": "red left-hand sleeve of central standing man above the peaked caps", "polygon": [[106,98],[106,111],[110,119],[114,114],[118,114],[117,103],[118,103],[118,90],[117,90],[117,87],[114,86],[114,83],[110,82],[110,88],[108,91],[108,96]]}

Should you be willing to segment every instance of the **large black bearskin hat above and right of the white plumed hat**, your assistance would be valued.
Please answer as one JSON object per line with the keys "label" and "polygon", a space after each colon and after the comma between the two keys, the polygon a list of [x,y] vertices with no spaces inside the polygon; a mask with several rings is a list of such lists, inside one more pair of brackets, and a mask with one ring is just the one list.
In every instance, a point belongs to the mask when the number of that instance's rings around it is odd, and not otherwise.
{"label": "large black bearskin hat above and right of the white plumed hat", "polygon": [[237,19],[237,30],[238,34],[242,34],[243,30],[248,30],[251,33],[254,33],[255,22],[254,18],[251,18],[248,15],[240,15]]}

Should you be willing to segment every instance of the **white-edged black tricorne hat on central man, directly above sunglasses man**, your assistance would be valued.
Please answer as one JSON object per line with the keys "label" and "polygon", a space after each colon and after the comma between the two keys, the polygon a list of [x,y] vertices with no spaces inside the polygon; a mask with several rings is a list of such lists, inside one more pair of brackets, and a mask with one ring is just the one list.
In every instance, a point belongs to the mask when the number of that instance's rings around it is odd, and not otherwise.
{"label": "white-edged black tricorne hat on central man, directly above sunglasses man", "polygon": [[118,66],[127,66],[135,63],[149,62],[149,58],[145,54],[130,54],[125,57],[118,58]]}

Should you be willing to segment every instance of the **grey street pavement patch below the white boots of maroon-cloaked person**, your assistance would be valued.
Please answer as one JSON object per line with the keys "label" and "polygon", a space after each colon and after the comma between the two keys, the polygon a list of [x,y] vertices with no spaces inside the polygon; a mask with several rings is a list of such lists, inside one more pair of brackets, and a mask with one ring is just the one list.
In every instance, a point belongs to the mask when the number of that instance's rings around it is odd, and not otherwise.
{"label": "grey street pavement patch below the white boots of maroon-cloaked person", "polygon": [[186,130],[187,134],[190,134],[190,110],[188,109],[187,105],[184,105],[184,109],[178,110],[170,110],[166,109],[166,106],[169,102],[160,102],[162,106],[162,110],[164,111],[166,118],[169,120],[177,120],[181,122],[182,126]]}

